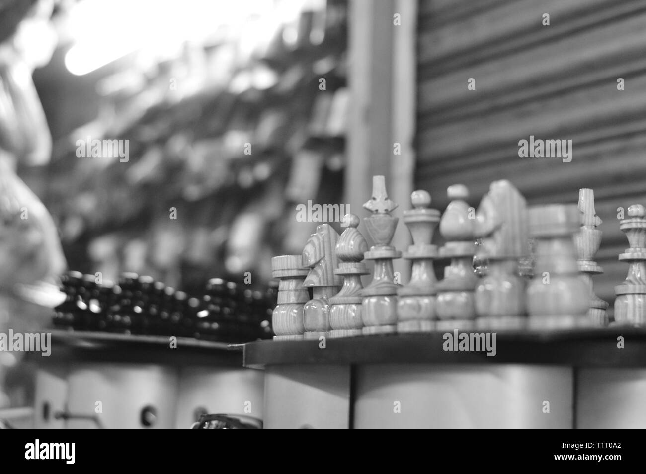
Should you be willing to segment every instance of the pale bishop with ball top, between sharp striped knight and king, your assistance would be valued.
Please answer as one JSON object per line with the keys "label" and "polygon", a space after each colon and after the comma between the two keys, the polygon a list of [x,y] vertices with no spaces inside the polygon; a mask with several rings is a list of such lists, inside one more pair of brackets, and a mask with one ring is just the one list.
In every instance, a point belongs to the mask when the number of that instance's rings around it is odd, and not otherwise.
{"label": "pale bishop with ball top, between sharp striped knight and king", "polygon": [[329,298],[329,325],[332,330],[329,336],[352,337],[363,334],[361,319],[361,275],[368,274],[362,262],[368,251],[368,243],[357,231],[359,218],[355,214],[346,214],[343,218],[346,230],[337,241],[337,258],[339,268],[334,273],[343,277],[343,287],[339,293]]}

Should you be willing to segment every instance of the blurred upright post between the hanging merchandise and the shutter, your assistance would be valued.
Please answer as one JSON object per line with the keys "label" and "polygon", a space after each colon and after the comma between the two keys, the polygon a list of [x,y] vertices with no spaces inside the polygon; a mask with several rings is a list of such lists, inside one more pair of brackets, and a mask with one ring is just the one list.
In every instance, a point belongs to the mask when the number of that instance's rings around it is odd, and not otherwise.
{"label": "blurred upright post between the hanging merchandise and the shutter", "polygon": [[[395,14],[399,15],[397,21]],[[401,217],[413,191],[417,2],[351,0],[350,17],[348,83],[352,107],[346,202],[363,218],[360,209],[370,199],[372,176],[382,175],[389,196],[400,204],[394,215]],[[399,143],[397,150],[395,143]],[[359,230],[366,235],[363,227]],[[409,243],[408,231],[398,226],[393,245],[401,250]],[[408,262],[395,260],[394,269],[401,273],[401,283],[408,281]]]}

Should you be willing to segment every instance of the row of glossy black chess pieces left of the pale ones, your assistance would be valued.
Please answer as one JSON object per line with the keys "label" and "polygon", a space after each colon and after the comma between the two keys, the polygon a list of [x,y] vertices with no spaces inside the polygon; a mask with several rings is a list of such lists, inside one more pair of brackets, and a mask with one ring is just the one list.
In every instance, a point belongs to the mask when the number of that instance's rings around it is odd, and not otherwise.
{"label": "row of glossy black chess pieces left of the pale ones", "polygon": [[252,290],[213,278],[197,298],[151,276],[124,273],[116,284],[69,272],[54,325],[78,331],[185,336],[225,342],[271,338],[276,288]]}

